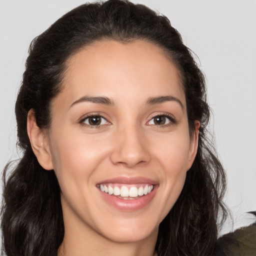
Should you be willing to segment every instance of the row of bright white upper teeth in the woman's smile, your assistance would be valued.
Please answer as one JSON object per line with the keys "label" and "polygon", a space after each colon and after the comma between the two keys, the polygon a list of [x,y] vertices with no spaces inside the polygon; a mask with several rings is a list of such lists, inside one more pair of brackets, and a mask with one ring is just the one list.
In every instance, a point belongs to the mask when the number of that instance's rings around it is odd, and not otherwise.
{"label": "row of bright white upper teeth in the woman's smile", "polygon": [[121,188],[119,188],[118,186],[112,187],[111,185],[107,186],[100,184],[99,188],[102,192],[106,192],[110,195],[114,194],[122,197],[137,197],[150,193],[153,190],[153,185],[145,185],[144,187],[140,186],[139,188],[136,186],[128,188],[127,186],[122,185]]}

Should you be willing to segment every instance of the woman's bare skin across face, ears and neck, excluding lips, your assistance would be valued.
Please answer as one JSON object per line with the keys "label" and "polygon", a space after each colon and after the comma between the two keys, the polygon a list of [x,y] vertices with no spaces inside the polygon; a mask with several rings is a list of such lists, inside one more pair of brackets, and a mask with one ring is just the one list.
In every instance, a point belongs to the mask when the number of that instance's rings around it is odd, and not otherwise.
{"label": "woman's bare skin across face, ears and neck, excluding lips", "polygon": [[[199,122],[189,135],[178,70],[161,48],[142,40],[95,42],[66,65],[49,130],[37,127],[32,109],[27,122],[39,163],[54,169],[61,188],[65,233],[58,255],[153,255],[159,223],[197,150]],[[113,104],[79,101],[83,96]],[[177,100],[148,103],[158,96]],[[88,114],[104,119],[94,126],[81,122]],[[170,119],[163,124],[153,119],[165,114]],[[155,180],[154,197],[134,211],[109,205],[96,184],[116,176]]]}

